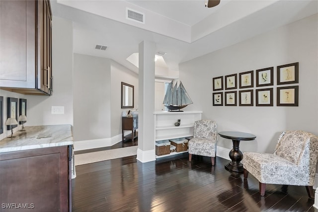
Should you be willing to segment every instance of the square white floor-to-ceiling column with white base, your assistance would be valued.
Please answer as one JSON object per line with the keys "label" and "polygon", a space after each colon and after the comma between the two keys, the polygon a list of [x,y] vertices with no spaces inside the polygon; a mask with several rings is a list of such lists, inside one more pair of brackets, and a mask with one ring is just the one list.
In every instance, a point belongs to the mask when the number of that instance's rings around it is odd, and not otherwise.
{"label": "square white floor-to-ceiling column with white base", "polygon": [[155,53],[154,42],[139,44],[139,117],[137,159],[156,160],[155,151]]}

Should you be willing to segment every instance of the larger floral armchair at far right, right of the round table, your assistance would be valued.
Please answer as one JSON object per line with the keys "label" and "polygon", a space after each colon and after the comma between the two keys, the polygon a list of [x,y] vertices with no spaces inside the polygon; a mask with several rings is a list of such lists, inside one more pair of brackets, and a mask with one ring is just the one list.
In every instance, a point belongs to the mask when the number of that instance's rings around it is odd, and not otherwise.
{"label": "larger floral armchair at far right, right of the round table", "polygon": [[282,132],[273,154],[244,152],[244,179],[251,173],[259,181],[259,193],[266,184],[306,186],[314,198],[314,180],[318,160],[318,137],[304,131]]}

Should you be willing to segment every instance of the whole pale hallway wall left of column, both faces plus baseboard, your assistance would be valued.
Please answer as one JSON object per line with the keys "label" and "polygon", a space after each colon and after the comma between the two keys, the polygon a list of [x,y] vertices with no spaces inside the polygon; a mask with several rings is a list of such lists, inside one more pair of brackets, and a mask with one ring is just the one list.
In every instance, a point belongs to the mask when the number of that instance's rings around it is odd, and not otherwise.
{"label": "whole pale hallway wall left of column, both faces plus baseboard", "polygon": [[121,82],[134,85],[138,108],[138,75],[115,61],[74,54],[75,150],[121,141]]}

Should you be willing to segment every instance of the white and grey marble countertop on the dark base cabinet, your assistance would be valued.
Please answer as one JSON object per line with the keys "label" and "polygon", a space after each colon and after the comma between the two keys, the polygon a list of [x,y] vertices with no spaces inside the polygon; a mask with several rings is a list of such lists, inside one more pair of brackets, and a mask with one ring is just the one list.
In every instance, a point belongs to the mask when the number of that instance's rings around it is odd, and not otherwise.
{"label": "white and grey marble countertop on the dark base cabinet", "polygon": [[2,139],[0,152],[74,144],[71,125],[31,126],[24,129],[13,133],[15,138]]}

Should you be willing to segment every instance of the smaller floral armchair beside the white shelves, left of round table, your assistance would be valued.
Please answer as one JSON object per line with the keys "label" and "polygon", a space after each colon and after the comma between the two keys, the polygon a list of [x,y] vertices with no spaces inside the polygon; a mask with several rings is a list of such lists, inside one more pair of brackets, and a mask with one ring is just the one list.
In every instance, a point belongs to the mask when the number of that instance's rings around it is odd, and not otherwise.
{"label": "smaller floral armchair beside the white shelves, left of round table", "polygon": [[194,122],[193,139],[188,141],[189,161],[192,154],[211,157],[212,165],[215,163],[218,134],[217,123],[212,120],[199,120]]}

